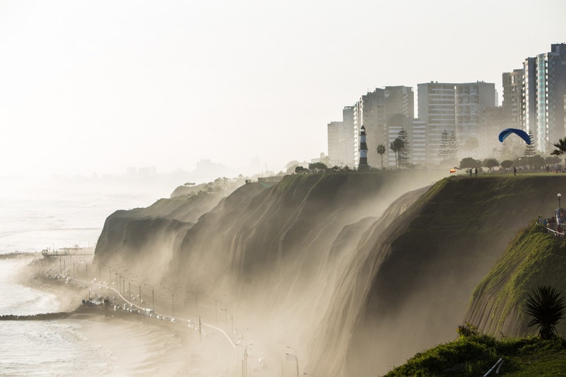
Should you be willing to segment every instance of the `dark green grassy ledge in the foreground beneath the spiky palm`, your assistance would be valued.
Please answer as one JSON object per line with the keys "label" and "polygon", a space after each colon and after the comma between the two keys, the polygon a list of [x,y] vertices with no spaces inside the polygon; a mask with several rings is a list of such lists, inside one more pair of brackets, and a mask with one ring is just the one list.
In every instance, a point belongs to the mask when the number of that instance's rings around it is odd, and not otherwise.
{"label": "dark green grassy ledge in the foreground beneath the spiky palm", "polygon": [[458,332],[458,340],[420,352],[385,376],[484,376],[499,358],[503,359],[499,374],[492,371],[490,376],[566,376],[566,340],[560,337],[499,341],[470,327]]}

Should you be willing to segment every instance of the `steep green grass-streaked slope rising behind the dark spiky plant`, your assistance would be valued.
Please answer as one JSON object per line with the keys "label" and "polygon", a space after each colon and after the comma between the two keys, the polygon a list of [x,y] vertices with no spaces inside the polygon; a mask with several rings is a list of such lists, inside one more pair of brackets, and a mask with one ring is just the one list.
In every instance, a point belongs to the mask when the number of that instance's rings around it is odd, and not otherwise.
{"label": "steep green grass-streaked slope rising behind the dark spiky plant", "polygon": [[[538,286],[550,285],[566,297],[566,243],[541,226],[524,228],[487,276],[475,287],[465,320],[495,337],[536,335],[528,327],[526,298]],[[556,327],[566,335],[566,321]]]}

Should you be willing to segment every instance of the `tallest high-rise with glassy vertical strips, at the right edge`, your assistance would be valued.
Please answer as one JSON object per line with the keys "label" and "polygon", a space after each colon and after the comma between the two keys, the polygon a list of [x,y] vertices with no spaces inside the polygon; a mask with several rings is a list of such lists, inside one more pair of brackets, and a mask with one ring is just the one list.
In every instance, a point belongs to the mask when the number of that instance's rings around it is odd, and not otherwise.
{"label": "tallest high-rise with glassy vertical strips, at the right edge", "polygon": [[566,43],[523,63],[522,128],[531,131],[538,151],[548,153],[566,136]]}

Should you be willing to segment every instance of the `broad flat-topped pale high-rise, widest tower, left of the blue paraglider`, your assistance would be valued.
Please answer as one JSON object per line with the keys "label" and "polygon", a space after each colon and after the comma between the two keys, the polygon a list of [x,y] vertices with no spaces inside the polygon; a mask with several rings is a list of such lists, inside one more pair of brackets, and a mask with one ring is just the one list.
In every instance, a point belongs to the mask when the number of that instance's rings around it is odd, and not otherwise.
{"label": "broad flat-topped pale high-rise, widest tower, left of the blue paraglider", "polygon": [[427,162],[441,161],[442,133],[454,132],[460,145],[479,140],[481,115],[497,106],[494,83],[420,83],[417,85],[419,119],[427,124]]}

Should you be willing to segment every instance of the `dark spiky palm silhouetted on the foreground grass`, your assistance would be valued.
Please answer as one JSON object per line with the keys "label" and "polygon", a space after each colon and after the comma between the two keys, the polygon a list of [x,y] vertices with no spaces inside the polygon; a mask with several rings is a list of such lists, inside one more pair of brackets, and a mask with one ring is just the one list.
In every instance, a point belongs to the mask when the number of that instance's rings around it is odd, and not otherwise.
{"label": "dark spiky palm silhouetted on the foreground grass", "polygon": [[556,334],[556,325],[564,318],[564,298],[551,286],[538,286],[526,299],[526,313],[533,316],[529,327],[536,325],[538,335],[548,340]]}

